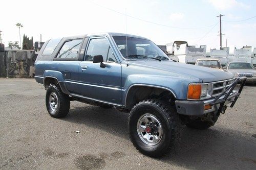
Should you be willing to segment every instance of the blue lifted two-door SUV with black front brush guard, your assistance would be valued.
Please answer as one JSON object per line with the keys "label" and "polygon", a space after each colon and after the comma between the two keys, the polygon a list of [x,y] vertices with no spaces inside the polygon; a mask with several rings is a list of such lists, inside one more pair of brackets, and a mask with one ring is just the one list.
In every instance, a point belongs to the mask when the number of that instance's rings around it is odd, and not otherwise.
{"label": "blue lifted two-door SUV with black front brush guard", "polygon": [[147,38],[102,33],[48,40],[35,61],[35,80],[45,86],[52,117],[66,116],[70,101],[114,106],[129,112],[136,149],[160,157],[175,150],[182,125],[213,126],[236,103],[246,78],[173,62]]}

